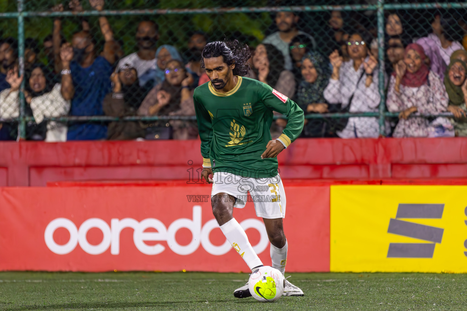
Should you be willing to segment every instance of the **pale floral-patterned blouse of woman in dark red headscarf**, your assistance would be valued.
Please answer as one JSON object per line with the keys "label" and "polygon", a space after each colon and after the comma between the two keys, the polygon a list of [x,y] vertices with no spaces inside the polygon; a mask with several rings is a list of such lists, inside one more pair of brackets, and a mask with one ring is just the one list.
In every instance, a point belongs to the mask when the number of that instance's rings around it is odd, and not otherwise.
{"label": "pale floral-patterned blouse of woman in dark red headscarf", "polygon": [[[388,99],[386,105],[390,112],[401,112],[411,107],[417,107],[414,115],[437,114],[446,111],[448,96],[444,84],[439,76],[430,70],[428,74],[430,85],[424,84],[419,88],[400,85],[400,93],[395,90],[396,77],[389,80]],[[430,122],[425,117],[410,117],[399,119],[393,137],[427,137]]]}

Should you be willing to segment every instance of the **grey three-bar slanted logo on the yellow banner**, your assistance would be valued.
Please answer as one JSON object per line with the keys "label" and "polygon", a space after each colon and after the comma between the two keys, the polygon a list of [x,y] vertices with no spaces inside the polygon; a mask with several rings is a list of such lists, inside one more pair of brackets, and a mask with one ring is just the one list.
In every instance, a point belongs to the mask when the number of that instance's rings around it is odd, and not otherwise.
{"label": "grey three-bar slanted logo on the yellow banner", "polygon": [[403,221],[399,218],[441,219],[444,204],[399,204],[396,218],[389,221],[388,233],[429,241],[429,243],[389,243],[388,258],[433,258],[436,243],[441,243],[443,228]]}

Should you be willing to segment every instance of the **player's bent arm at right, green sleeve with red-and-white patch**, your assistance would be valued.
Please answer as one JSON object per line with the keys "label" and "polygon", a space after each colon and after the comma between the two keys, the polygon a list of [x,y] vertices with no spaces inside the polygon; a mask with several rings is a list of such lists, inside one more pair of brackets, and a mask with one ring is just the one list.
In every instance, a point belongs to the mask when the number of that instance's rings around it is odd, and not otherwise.
{"label": "player's bent arm at right, green sleeve with red-and-white patch", "polygon": [[[303,110],[290,98],[284,96],[278,91],[272,89],[269,85],[263,84],[261,89],[262,102],[271,110],[280,112],[287,116],[288,121],[279,140],[287,148],[302,132],[304,125]],[[272,141],[268,144],[266,151],[270,145],[274,145]],[[265,152],[266,152],[265,151]],[[269,156],[268,156],[269,155]],[[275,155],[277,156],[277,154]],[[273,158],[274,154],[263,153],[262,158]]]}

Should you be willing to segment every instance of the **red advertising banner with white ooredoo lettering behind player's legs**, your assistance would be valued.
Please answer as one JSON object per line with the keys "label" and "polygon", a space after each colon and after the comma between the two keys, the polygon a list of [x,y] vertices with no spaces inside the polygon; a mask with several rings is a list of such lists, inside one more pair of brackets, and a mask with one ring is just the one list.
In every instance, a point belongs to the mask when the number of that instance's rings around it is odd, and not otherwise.
{"label": "red advertising banner with white ooredoo lettering behind player's legs", "polygon": [[[329,187],[284,186],[287,270],[329,271]],[[0,188],[0,270],[246,272],[210,193],[206,185]],[[234,217],[269,265],[253,203]]]}

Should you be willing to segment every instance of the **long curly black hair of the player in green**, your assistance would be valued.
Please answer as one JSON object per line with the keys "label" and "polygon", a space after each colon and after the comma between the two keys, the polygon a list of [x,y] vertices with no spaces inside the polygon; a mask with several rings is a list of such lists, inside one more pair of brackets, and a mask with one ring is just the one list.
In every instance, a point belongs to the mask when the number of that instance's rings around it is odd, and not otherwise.
{"label": "long curly black hair of the player in green", "polygon": [[238,40],[214,41],[206,44],[201,53],[201,67],[205,68],[204,59],[222,56],[227,65],[235,64],[232,70],[235,76],[247,76],[250,70],[248,59],[251,57],[248,45]]}

